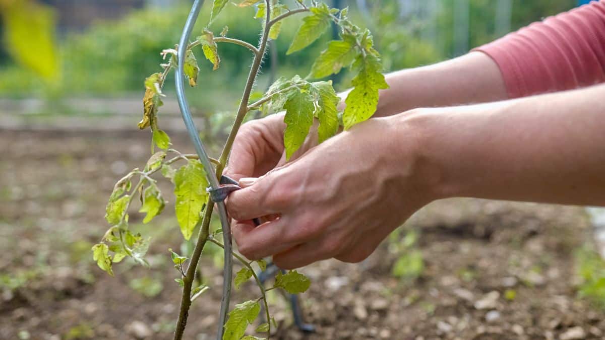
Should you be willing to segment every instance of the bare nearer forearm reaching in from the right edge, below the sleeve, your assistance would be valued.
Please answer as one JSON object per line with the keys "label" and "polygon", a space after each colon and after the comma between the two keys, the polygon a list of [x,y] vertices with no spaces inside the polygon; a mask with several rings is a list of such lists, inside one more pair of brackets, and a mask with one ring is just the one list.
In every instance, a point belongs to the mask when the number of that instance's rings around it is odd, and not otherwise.
{"label": "bare nearer forearm reaching in from the right edge, below the sleeve", "polygon": [[600,85],[404,120],[419,131],[437,198],[605,205],[604,97]]}

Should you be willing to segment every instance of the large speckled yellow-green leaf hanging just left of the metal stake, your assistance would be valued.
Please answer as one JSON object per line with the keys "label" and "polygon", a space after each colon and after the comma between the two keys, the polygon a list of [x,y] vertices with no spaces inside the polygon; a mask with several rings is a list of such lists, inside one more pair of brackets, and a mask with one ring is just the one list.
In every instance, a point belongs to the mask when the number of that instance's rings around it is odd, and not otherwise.
{"label": "large speckled yellow-green leaf hanging just left of the metal stake", "polygon": [[200,212],[208,198],[206,171],[199,160],[189,160],[174,174],[175,211],[185,240],[189,240],[200,220]]}

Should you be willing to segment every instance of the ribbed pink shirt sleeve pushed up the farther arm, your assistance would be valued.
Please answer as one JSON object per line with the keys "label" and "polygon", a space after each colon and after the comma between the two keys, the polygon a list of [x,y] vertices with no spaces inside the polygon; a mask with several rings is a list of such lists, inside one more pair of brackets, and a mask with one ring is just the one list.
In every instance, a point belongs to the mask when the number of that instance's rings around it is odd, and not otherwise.
{"label": "ribbed pink shirt sleeve pushed up the farther arm", "polygon": [[511,98],[605,82],[605,0],[476,48],[500,67]]}

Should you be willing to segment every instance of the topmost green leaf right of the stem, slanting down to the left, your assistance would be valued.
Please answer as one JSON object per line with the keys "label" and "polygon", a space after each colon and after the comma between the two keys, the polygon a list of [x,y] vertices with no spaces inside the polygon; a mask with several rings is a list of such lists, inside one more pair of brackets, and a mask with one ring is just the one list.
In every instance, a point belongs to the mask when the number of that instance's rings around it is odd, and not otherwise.
{"label": "topmost green leaf right of the stem, slanting down to the left", "polygon": [[302,25],[298,28],[290,48],[286,54],[302,50],[316,41],[325,30],[330,27],[330,10],[325,4],[310,8],[311,15],[302,18]]}

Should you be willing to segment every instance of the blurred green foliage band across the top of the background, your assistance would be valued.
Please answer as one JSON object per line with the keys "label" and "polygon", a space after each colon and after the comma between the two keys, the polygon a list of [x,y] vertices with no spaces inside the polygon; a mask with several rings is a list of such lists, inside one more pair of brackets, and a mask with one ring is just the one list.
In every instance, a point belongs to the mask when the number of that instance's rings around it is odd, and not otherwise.
{"label": "blurred green foliage band across the top of the background", "polygon": [[[365,25],[374,33],[374,40],[378,50],[384,57],[387,70],[416,67],[418,65],[432,64],[453,54],[453,4],[455,0],[440,1],[440,10],[434,19],[422,19],[414,14],[402,15],[401,1],[384,0],[380,2],[365,1],[368,11],[360,13],[356,1],[342,1],[343,6],[351,7],[350,16],[356,22],[365,22]],[[495,33],[495,5],[494,1],[470,1],[470,37],[469,46],[476,47],[498,38]],[[54,20],[50,11],[41,5],[32,5],[28,1],[0,0],[1,4],[29,4],[45,13],[41,18],[22,21],[21,19],[6,20],[9,22],[29,22],[28,32],[43,32],[36,39],[51,39],[52,27],[45,29],[42,24],[49,25]],[[5,65],[0,69],[0,95],[2,96],[32,96],[36,94],[49,94],[54,96],[78,96],[93,94],[94,96],[116,96],[125,92],[139,93],[143,90],[143,79],[154,71],[160,70],[162,62],[160,51],[174,47],[178,41],[180,31],[189,12],[190,2],[174,1],[167,8],[148,7],[126,14],[119,21],[93,22],[82,33],[68,33],[60,41],[59,70],[55,74],[57,84],[48,86],[36,74],[52,74],[51,71],[41,71],[35,67],[24,70],[25,60],[17,64]],[[208,7],[211,5],[206,4]],[[574,7],[574,0],[536,0],[513,1],[511,29],[515,30],[532,21],[540,20],[548,15],[569,10]],[[2,14],[8,13],[2,10]],[[34,13],[32,11],[31,13]],[[194,36],[201,32],[203,25],[208,22],[210,8],[203,8],[194,29]],[[227,4],[221,15],[212,24],[211,30],[219,33],[224,26],[229,26],[228,36],[242,39],[256,44],[258,41],[258,28],[260,22],[253,19],[254,8],[238,8]],[[3,16],[4,17],[4,16]],[[46,20],[46,21],[45,21]],[[33,24],[31,24],[33,22]],[[295,74],[305,76],[309,70],[310,62],[319,55],[321,47],[327,40],[332,39],[325,34],[319,42],[300,53],[292,54],[288,59],[284,56],[296,31],[296,19],[284,22],[280,39],[275,42],[276,53],[269,53],[264,64],[264,74],[259,79],[259,88],[269,83],[270,69],[275,63],[278,65],[280,75],[292,77]],[[363,25],[363,24],[362,24]],[[25,25],[22,25],[25,26]],[[22,28],[25,29],[25,28]],[[428,29],[436,30],[436,41],[427,41],[423,35]],[[6,31],[6,30],[5,30]],[[28,34],[29,34],[28,33]],[[5,36],[8,36],[5,32]],[[31,35],[30,34],[30,35]],[[35,35],[35,34],[33,34]],[[32,36],[33,36],[32,35]],[[22,39],[19,39],[21,41]],[[47,46],[47,42],[28,42],[29,51]],[[51,41],[51,40],[50,40]],[[205,111],[231,110],[238,100],[238,93],[234,93],[243,85],[247,75],[252,56],[243,48],[231,44],[218,45],[221,58],[225,66],[212,72],[209,65],[201,65],[199,76],[200,87],[192,90],[189,96],[192,106],[203,108]],[[199,52],[198,52],[199,53]],[[27,57],[36,60],[40,51],[27,53]],[[198,59],[203,56],[198,56]],[[275,59],[276,58],[276,59]],[[50,60],[50,59],[49,59]],[[39,60],[38,60],[39,61]],[[44,63],[52,64],[51,62]],[[36,71],[38,70],[38,73]],[[335,80],[339,80],[336,77]],[[342,75],[337,88],[342,90],[348,87],[347,74]],[[208,86],[212,84],[212,86]],[[168,93],[172,91],[172,82],[169,82]],[[193,95],[195,94],[195,95]],[[138,95],[138,94],[137,94]]]}

